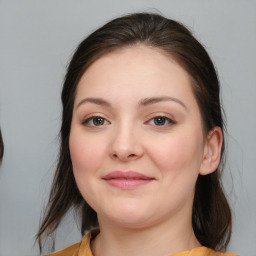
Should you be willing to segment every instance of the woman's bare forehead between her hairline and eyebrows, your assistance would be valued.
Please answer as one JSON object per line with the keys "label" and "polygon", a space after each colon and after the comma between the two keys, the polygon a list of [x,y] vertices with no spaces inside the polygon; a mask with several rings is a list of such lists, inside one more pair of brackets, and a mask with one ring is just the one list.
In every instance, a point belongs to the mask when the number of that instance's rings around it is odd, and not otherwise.
{"label": "woman's bare forehead between her hairline and eyebrows", "polygon": [[162,50],[145,45],[118,49],[93,62],[81,77],[76,96],[102,97],[114,92],[119,97],[193,97],[191,79],[184,68]]}

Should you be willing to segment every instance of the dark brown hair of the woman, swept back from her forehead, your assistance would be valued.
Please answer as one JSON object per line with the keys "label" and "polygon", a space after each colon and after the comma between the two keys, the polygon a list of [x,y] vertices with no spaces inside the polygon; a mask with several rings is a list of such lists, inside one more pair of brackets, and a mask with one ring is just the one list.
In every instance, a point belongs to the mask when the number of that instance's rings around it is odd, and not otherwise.
{"label": "dark brown hair of the woman, swept back from her forehead", "polygon": [[[96,212],[81,196],[73,175],[69,152],[69,134],[77,84],[85,70],[102,55],[135,44],[161,49],[175,58],[190,75],[199,105],[204,132],[213,127],[224,129],[219,99],[219,81],[214,65],[191,32],[182,24],[158,14],[135,13],[114,19],[80,43],[68,66],[62,90],[60,153],[48,208],[37,234],[51,235],[72,207],[81,211],[81,233],[98,226]],[[199,175],[193,205],[193,228],[199,242],[212,249],[224,250],[231,235],[231,212],[223,193],[220,174],[222,162],[212,174]]]}

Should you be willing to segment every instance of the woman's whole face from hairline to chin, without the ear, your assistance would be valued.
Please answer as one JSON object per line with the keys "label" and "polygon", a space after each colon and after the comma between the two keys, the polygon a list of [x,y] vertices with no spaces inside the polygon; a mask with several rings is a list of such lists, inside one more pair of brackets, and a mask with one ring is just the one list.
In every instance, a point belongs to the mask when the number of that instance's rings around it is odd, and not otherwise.
{"label": "woman's whole face from hairline to chin, without the ear", "polygon": [[204,136],[189,76],[169,56],[134,46],[95,61],[77,87],[69,145],[100,223],[191,216]]}

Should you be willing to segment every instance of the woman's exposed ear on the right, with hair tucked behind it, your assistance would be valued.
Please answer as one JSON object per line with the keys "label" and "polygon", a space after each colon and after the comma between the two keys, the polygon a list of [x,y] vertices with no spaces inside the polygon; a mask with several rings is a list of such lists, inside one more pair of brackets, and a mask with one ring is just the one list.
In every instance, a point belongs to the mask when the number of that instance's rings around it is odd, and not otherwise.
{"label": "woman's exposed ear on the right, with hair tucked behind it", "polygon": [[207,175],[214,172],[220,163],[223,133],[220,127],[214,127],[207,135],[204,156],[199,173]]}

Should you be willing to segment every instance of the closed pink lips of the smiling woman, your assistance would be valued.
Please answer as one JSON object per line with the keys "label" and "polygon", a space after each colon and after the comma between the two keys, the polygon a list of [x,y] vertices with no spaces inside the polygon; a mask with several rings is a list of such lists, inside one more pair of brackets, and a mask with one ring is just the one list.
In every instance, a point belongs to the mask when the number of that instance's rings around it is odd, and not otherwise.
{"label": "closed pink lips of the smiling woman", "polygon": [[134,189],[155,180],[152,177],[134,171],[114,171],[105,175],[102,179],[109,185],[120,189]]}

